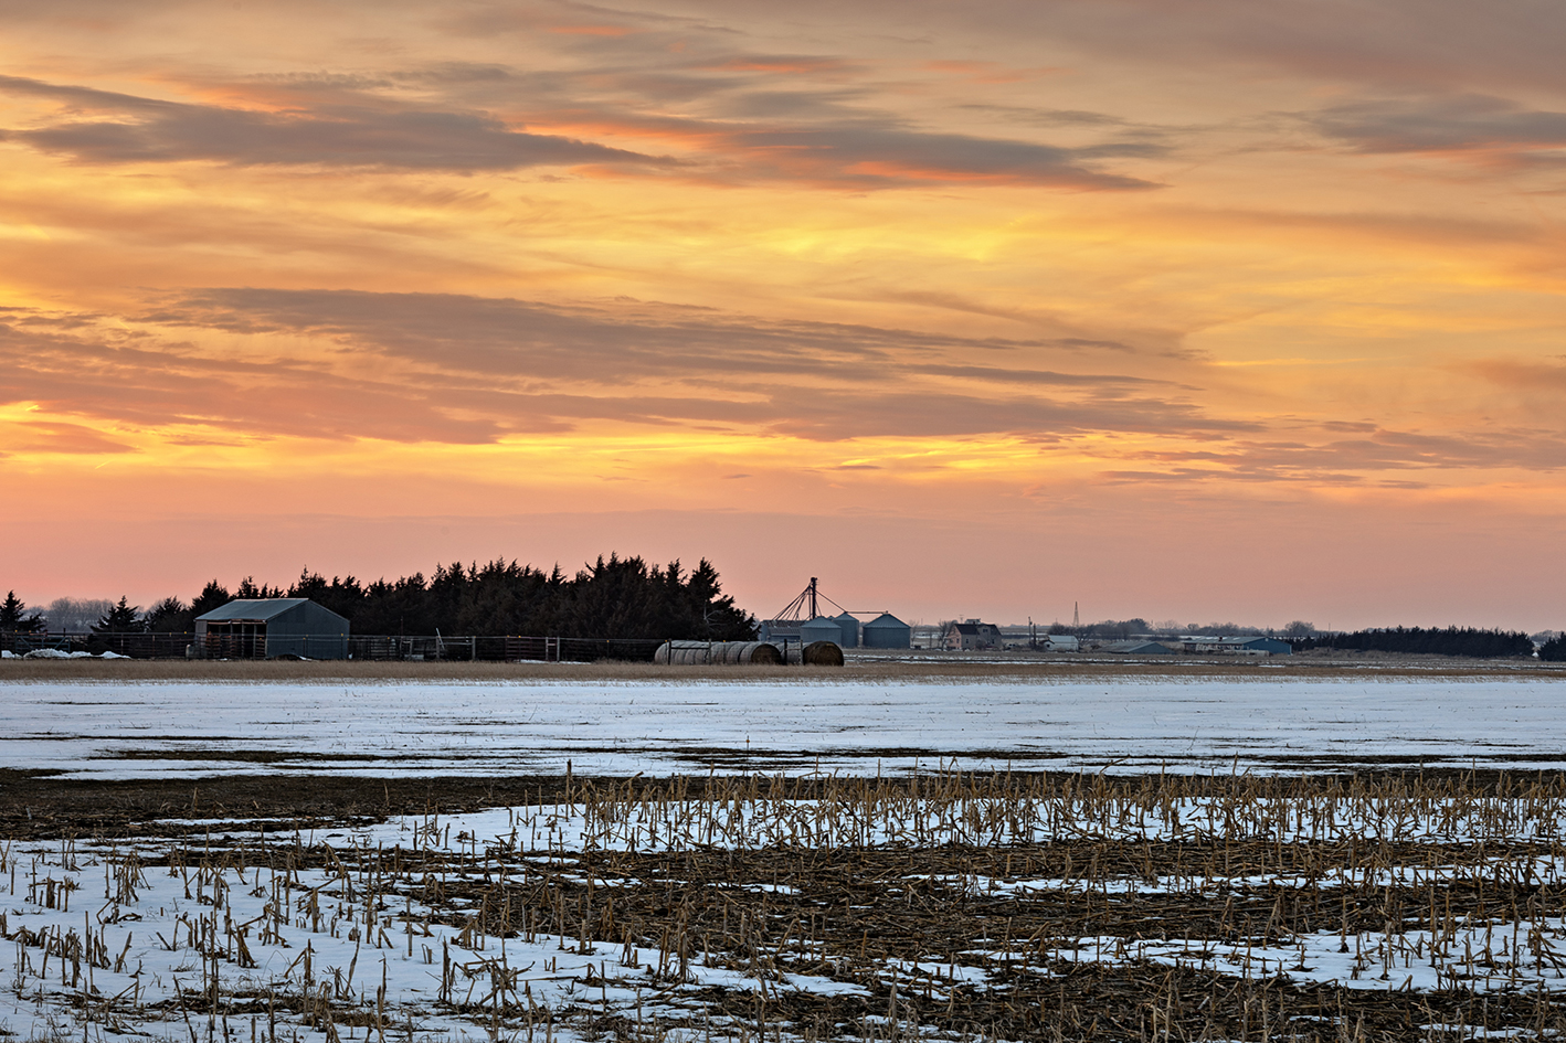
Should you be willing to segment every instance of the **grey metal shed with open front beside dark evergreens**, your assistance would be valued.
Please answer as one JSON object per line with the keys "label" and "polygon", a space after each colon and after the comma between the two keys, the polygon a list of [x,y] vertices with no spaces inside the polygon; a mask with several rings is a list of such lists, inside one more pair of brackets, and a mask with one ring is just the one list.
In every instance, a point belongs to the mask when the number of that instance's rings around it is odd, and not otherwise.
{"label": "grey metal shed with open front beside dark evergreens", "polygon": [[196,617],[194,655],[346,659],[348,620],[310,598],[240,598]]}

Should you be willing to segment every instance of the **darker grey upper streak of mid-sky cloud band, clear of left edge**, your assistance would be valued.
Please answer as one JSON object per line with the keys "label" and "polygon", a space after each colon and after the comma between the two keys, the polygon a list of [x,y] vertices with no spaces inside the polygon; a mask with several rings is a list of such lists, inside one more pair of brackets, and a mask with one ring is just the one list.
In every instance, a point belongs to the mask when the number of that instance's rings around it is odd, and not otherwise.
{"label": "darker grey upper streak of mid-sky cloud band, clear of left edge", "polygon": [[[338,290],[218,288],[182,294],[143,321],[246,334],[307,332],[473,373],[539,373],[630,382],[670,374],[750,373],[886,381],[951,354],[1023,360],[1034,352],[1124,352],[1084,338],[952,337],[868,324],[753,319],[713,309],[619,299],[550,305],[511,298]],[[969,373],[979,368],[969,366]],[[983,373],[999,376],[1001,366]],[[1052,374],[1060,382],[1065,374]],[[1084,381],[1124,387],[1126,377]]]}

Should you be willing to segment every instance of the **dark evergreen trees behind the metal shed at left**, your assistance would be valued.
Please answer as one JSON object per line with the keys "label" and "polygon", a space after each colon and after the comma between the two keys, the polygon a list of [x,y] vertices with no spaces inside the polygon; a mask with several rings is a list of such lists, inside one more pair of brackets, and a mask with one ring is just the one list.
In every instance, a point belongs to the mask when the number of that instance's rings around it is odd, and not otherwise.
{"label": "dark evergreen trees behind the metal shed at left", "polygon": [[[515,561],[440,565],[435,573],[360,583],[304,570],[283,587],[246,576],[232,592],[213,579],[189,603],[164,598],[143,612],[121,598],[92,625],[96,633],[189,633],[196,617],[233,598],[310,598],[349,620],[359,634],[532,634],[551,637],[645,637],[753,641],[756,620],[725,595],[717,570],[702,562],[648,565],[609,554],[567,576]],[[16,595],[0,606],[0,630],[42,630]]]}

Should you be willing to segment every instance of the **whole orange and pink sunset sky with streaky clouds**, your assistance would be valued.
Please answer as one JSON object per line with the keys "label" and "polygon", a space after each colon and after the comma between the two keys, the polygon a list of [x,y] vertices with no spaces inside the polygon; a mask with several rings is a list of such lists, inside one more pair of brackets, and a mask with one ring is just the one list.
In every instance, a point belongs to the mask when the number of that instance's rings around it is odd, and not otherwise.
{"label": "whole orange and pink sunset sky with streaky clouds", "polygon": [[0,25],[0,592],[1566,626],[1566,5]]}

